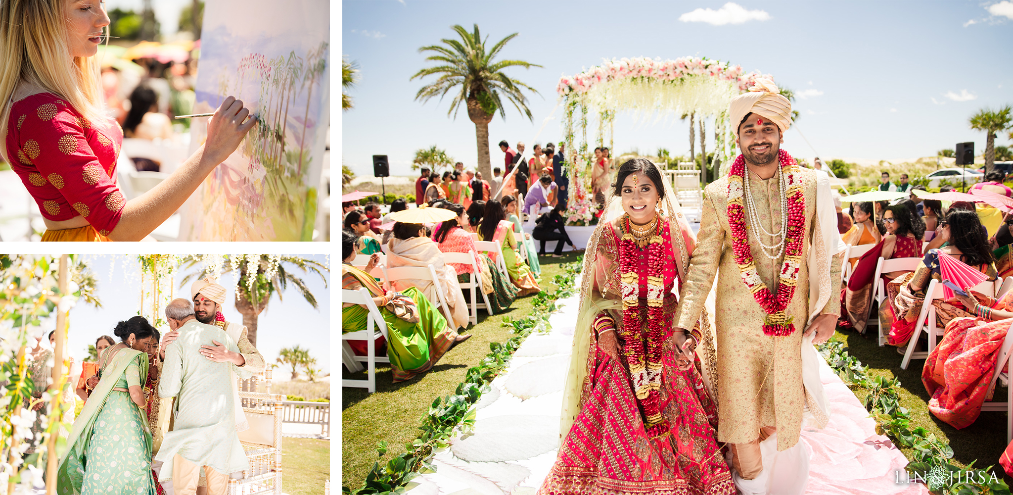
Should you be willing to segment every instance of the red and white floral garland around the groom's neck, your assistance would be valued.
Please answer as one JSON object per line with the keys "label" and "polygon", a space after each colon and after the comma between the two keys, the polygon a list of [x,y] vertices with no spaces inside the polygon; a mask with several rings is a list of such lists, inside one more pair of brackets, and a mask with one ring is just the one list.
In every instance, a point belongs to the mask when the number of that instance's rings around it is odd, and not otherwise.
{"label": "red and white floral garland around the groom's neck", "polygon": [[771,292],[760,279],[753,260],[749,232],[746,228],[746,209],[743,204],[743,185],[746,180],[746,159],[738,155],[728,171],[728,224],[731,227],[731,248],[743,282],[753,292],[753,297],[767,313],[763,332],[770,336],[788,336],[795,331],[792,317],[785,309],[795,295],[802,255],[802,236],[805,228],[805,195],[795,175],[795,159],[786,151],[778,151],[781,168],[785,171],[788,195],[788,226],[785,236],[784,263],[781,266],[777,294]]}

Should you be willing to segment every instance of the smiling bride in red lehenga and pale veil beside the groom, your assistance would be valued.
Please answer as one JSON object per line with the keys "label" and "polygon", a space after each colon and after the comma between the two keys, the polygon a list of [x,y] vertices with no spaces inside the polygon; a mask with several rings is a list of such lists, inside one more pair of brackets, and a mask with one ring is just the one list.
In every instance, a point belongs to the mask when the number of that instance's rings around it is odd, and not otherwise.
{"label": "smiling bride in red lehenga and pale veil beside the groom", "polygon": [[672,330],[693,233],[649,160],[624,163],[616,185],[585,255],[562,444],[539,495],[734,494],[707,319]]}

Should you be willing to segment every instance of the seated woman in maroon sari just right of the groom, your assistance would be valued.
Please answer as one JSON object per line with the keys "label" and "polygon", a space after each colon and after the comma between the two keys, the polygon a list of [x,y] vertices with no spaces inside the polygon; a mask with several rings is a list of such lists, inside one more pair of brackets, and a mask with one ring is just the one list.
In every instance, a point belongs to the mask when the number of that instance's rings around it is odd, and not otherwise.
{"label": "seated woman in maroon sari just right of the groom", "polygon": [[[893,205],[883,212],[883,224],[887,234],[875,248],[862,255],[855,267],[855,272],[844,289],[844,307],[838,325],[841,328],[853,329],[865,333],[865,324],[872,307],[872,296],[876,290],[873,280],[879,259],[921,258],[924,230],[921,222],[916,223],[911,210],[905,205]],[[881,274],[883,283],[893,280],[903,272]],[[886,304],[884,304],[885,306]]]}

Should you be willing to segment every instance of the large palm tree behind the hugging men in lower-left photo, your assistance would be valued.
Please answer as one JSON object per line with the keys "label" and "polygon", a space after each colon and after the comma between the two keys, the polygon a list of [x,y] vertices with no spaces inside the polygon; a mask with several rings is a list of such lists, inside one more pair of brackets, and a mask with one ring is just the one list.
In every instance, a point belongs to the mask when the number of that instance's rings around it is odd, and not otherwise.
{"label": "large palm tree behind the hugging men in lower-left photo", "polygon": [[[215,270],[209,266],[207,257],[208,255],[181,257],[179,264],[184,268],[193,268],[198,264],[204,264],[204,267],[183,277],[179,282],[180,288],[193,279],[207,275],[217,275],[213,273]],[[325,287],[327,286],[327,277],[324,276],[324,272],[330,271],[326,265],[315,260],[289,255],[221,255],[218,263],[221,264],[222,274],[233,270],[238,270],[240,273],[236,310],[243,315],[243,325],[246,326],[247,331],[246,336],[254,347],[256,347],[257,317],[267,307],[271,295],[278,294],[278,300],[282,300],[282,293],[289,287],[290,283],[299,289],[299,293],[306,299],[306,302],[309,302],[314,308],[318,307],[316,296],[306,287],[306,282],[297,277],[291,269],[286,268],[286,264],[294,265],[303,273],[319,275]],[[254,272],[252,268],[256,268],[256,271]],[[254,277],[252,283],[249,279],[250,274],[253,274]],[[251,285],[252,290],[249,288]]]}

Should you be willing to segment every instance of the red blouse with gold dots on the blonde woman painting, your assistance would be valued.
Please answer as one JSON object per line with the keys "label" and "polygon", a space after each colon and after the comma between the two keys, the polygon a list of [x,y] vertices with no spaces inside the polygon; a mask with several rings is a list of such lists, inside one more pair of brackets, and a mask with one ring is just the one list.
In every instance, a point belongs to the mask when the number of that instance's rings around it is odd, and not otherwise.
{"label": "red blouse with gold dots on the blonde woman painting", "polygon": [[123,129],[88,122],[52,93],[15,101],[7,125],[7,156],[50,220],[81,215],[98,233],[120,222],[127,200],[116,185]]}

